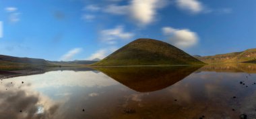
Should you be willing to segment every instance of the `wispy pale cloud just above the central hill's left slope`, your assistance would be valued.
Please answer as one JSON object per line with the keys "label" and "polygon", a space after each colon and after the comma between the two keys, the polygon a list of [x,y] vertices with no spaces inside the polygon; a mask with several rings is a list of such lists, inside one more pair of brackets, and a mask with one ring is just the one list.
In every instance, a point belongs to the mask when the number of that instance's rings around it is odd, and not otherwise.
{"label": "wispy pale cloud just above the central hill's left slope", "polygon": [[100,31],[101,34],[101,40],[105,41],[105,43],[116,43],[116,40],[118,39],[131,39],[131,37],[134,36],[133,33],[125,32],[123,30],[123,26],[119,25],[115,27],[114,29],[104,29]]}

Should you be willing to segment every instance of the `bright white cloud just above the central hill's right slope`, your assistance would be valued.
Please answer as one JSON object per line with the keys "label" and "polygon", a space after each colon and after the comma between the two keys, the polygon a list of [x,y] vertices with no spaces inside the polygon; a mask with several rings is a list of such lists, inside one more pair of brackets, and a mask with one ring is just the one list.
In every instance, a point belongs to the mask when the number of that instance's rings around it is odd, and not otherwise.
{"label": "bright white cloud just above the central hill's right slope", "polygon": [[199,37],[197,33],[189,29],[174,29],[172,27],[163,27],[162,32],[166,35],[172,43],[179,48],[188,48],[196,45]]}

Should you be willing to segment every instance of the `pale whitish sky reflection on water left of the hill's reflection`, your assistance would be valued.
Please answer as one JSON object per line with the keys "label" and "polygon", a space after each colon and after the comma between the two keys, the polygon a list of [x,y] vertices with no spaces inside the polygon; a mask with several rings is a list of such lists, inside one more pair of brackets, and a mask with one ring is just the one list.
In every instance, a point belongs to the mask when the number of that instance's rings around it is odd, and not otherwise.
{"label": "pale whitish sky reflection on water left of the hill's reflection", "polygon": [[110,80],[108,76],[95,72],[73,72],[55,71],[46,72],[34,76],[21,76],[9,79],[9,82],[26,82],[31,84],[34,90],[42,92],[51,98],[62,98],[69,96],[75,90],[83,90],[90,87],[104,87],[117,85],[115,80]]}

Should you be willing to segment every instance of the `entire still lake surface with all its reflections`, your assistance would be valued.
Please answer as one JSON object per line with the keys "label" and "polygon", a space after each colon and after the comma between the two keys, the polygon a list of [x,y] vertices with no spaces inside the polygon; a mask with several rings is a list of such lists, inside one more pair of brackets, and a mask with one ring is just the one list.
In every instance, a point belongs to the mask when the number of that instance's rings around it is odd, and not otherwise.
{"label": "entire still lake surface with all its reflections", "polygon": [[0,118],[256,118],[255,64],[96,69],[1,80]]}

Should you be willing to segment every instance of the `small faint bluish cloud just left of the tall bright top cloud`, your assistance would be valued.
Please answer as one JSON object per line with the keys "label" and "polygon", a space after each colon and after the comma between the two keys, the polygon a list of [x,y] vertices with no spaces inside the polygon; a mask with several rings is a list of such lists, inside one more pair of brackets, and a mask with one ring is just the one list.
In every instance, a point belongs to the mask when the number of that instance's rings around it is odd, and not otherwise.
{"label": "small faint bluish cloud just left of the tall bright top cloud", "polygon": [[113,13],[116,15],[125,15],[129,11],[128,5],[108,5],[104,12],[106,13]]}

